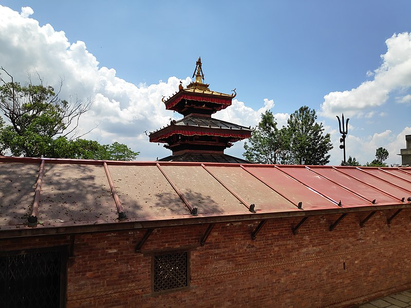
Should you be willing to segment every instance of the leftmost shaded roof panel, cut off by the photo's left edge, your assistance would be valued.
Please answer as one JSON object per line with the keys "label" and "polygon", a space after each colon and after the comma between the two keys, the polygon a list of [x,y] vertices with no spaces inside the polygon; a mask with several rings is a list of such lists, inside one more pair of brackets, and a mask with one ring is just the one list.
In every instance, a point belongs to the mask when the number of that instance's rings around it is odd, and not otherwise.
{"label": "leftmost shaded roof panel, cut off by the photo's left edge", "polygon": [[0,226],[27,222],[33,204],[39,166],[0,163]]}

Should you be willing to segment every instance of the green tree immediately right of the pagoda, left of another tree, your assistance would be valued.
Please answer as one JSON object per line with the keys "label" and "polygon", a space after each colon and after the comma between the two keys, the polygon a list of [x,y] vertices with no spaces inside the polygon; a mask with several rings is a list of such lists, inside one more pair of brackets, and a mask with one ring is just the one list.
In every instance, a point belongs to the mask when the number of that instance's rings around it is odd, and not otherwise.
{"label": "green tree immediately right of the pagoda, left of another tree", "polygon": [[261,121],[251,133],[249,144],[244,143],[244,157],[250,162],[277,164],[281,161],[286,147],[284,129],[278,129],[274,114],[267,110],[261,114]]}

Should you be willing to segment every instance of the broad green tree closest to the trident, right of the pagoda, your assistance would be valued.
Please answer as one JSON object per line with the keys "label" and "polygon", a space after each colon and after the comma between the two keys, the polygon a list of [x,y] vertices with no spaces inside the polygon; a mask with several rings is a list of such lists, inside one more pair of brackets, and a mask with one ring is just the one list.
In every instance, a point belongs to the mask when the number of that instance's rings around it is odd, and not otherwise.
{"label": "broad green tree closest to the trident, right of the pagoda", "polygon": [[329,163],[332,149],[330,134],[324,134],[322,123],[316,123],[315,110],[307,106],[290,114],[287,134],[290,140],[290,163],[300,165],[325,165]]}

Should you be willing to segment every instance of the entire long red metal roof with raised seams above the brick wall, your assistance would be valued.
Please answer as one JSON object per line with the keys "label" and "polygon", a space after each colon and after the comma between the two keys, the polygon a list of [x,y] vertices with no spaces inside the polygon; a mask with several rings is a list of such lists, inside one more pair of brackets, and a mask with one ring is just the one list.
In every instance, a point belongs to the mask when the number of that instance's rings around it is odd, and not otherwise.
{"label": "entire long red metal roof with raised seams above the brick wall", "polygon": [[45,229],[404,207],[411,207],[411,168],[0,157],[0,236],[30,229],[31,216]]}

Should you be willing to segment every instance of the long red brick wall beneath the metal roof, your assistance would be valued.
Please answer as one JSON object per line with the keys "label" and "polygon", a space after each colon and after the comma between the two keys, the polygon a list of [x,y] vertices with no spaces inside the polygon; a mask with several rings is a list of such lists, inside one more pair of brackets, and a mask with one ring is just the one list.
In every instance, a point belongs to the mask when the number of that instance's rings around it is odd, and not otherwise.
{"label": "long red brick wall beneath the metal roof", "polygon": [[[255,241],[259,221],[154,230],[135,253],[145,230],[76,235],[67,272],[68,307],[349,307],[411,287],[411,210],[312,216],[293,235],[301,218],[268,220]],[[1,250],[69,244],[69,236],[0,240]],[[191,249],[191,285],[152,294],[151,254]]]}

